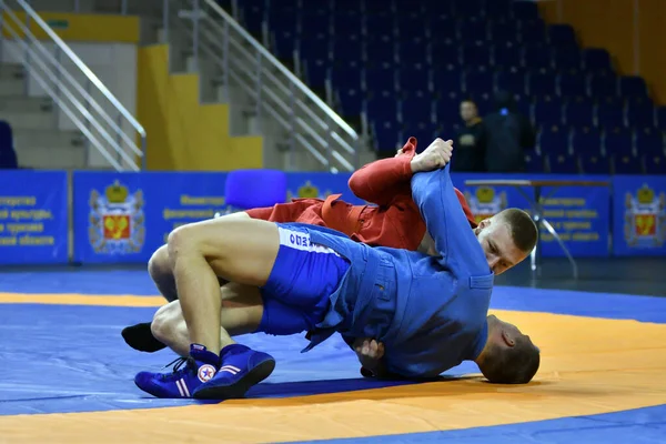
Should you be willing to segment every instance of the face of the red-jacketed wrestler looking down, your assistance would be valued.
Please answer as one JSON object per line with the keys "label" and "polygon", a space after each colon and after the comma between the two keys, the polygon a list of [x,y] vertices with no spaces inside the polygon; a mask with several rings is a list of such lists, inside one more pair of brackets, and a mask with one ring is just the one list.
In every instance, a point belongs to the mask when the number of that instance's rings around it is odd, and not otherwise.
{"label": "face of the red-jacketed wrestler looking down", "polygon": [[511,230],[502,218],[496,215],[484,219],[474,229],[488,266],[495,274],[502,274],[527,258],[513,242]]}

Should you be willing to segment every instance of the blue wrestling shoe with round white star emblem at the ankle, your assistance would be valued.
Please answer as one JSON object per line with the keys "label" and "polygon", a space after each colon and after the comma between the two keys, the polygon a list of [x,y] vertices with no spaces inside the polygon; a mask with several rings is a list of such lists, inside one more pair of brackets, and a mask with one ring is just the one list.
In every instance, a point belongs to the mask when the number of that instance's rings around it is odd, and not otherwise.
{"label": "blue wrestling shoe with round white star emblem at the ankle", "polygon": [[[180,357],[168,366],[171,373],[141,372],[134,384],[157,397],[192,397],[192,393],[204,382],[212,380],[220,366],[220,359],[203,345],[190,345],[190,356]],[[184,366],[183,366],[184,364]]]}

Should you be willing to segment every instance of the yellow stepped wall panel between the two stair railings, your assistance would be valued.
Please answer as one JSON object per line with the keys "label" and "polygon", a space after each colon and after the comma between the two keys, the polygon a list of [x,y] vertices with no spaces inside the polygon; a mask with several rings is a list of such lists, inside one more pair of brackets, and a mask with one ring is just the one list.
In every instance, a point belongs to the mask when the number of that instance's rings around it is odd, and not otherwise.
{"label": "yellow stepped wall panel between the two stair railings", "polygon": [[263,139],[230,137],[229,105],[201,104],[196,74],[169,74],[167,46],[140,49],[138,93],[149,170],[262,168]]}

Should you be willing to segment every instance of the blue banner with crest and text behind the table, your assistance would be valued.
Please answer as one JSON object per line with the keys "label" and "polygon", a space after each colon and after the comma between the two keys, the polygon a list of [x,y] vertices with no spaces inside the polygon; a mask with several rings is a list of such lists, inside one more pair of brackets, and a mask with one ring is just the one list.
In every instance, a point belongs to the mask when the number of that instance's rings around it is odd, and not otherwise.
{"label": "blue banner with crest and text behind the table", "polygon": [[[452,174],[454,184],[465,194],[477,221],[506,208],[519,208],[532,212],[529,202],[534,202],[534,189],[531,186],[522,188],[529,196],[528,201],[515,186],[465,185],[466,180],[484,179],[582,180],[579,175]],[[609,181],[609,178],[596,176],[594,180]],[[608,186],[561,186],[557,190],[544,186],[542,189],[541,202],[544,206],[544,216],[572,255],[578,258],[608,255],[609,196]],[[554,236],[543,226],[539,231],[539,246],[544,256],[564,256]]]}

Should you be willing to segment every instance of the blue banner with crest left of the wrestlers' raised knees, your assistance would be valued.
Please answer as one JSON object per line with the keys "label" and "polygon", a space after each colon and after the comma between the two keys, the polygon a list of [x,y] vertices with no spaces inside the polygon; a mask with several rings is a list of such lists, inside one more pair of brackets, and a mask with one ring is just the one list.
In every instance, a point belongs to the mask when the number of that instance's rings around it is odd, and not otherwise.
{"label": "blue banner with crest left of the wrestlers' raised knees", "polygon": [[225,179],[218,172],[74,172],[74,261],[147,262],[173,229],[224,210]]}

